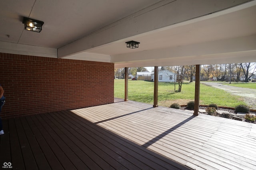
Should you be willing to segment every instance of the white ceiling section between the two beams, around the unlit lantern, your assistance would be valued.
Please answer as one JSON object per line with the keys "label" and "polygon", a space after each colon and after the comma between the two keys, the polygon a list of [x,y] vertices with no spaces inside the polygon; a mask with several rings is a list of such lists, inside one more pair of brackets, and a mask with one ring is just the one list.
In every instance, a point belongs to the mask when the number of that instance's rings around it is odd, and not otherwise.
{"label": "white ceiling section between the two beams, around the unlit lantern", "polygon": [[[209,18],[198,18],[184,23],[170,25],[162,29],[136,35],[133,38],[139,41],[138,51],[165,49],[190,44],[216,41],[219,39],[230,39],[256,34],[256,6],[243,10],[214,16]],[[100,53],[106,55],[119,55],[129,53],[124,39],[112,44],[86,50],[86,52]]]}

